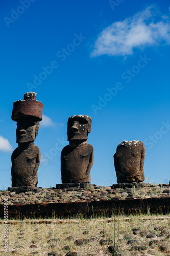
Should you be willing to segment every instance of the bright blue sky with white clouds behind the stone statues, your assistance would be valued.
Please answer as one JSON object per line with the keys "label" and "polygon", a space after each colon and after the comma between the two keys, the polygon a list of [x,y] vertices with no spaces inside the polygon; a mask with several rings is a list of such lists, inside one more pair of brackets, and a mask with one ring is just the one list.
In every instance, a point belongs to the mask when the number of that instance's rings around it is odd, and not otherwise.
{"label": "bright blue sky with white clouds behind the stone statues", "polygon": [[144,143],[146,180],[169,181],[169,6],[160,0],[1,3],[0,189],[11,186],[17,147],[13,102],[29,91],[43,103],[38,186],[61,183],[67,120],[76,114],[92,120],[91,183],[116,183],[113,155],[123,140]]}

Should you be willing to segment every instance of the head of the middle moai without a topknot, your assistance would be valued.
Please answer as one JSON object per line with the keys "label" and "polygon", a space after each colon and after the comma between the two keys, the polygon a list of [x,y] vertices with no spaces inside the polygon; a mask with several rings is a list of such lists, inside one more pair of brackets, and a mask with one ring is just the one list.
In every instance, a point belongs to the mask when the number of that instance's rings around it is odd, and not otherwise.
{"label": "head of the middle moai without a topknot", "polygon": [[91,132],[91,118],[85,115],[74,115],[68,118],[68,141],[87,140]]}

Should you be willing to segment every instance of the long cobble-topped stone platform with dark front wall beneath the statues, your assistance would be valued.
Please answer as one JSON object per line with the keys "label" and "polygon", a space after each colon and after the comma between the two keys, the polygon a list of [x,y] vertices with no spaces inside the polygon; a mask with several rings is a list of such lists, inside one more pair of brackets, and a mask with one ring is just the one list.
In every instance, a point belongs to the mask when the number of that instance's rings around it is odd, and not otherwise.
{"label": "long cobble-topped stone platform with dark front wall beneath the statues", "polygon": [[58,184],[64,188],[9,187],[8,190],[0,190],[0,216],[3,218],[5,198],[8,200],[9,217],[12,218],[21,215],[51,216],[54,212],[64,216],[74,216],[78,212],[128,214],[145,212],[148,207],[151,212],[164,214],[170,210],[168,184],[124,183],[113,184],[112,187],[95,186],[90,183],[78,183],[76,187],[75,184]]}

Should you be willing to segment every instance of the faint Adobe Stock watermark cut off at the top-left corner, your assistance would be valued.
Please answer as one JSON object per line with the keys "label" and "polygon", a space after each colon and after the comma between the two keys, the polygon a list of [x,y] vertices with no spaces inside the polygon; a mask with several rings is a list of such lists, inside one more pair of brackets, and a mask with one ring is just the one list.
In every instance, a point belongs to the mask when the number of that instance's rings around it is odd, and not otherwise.
{"label": "faint Adobe Stock watermark cut off at the top-left corner", "polygon": [[4,17],[5,23],[7,25],[7,27],[10,27],[11,23],[14,23],[15,20],[17,20],[20,17],[20,14],[25,12],[25,9],[28,9],[30,7],[30,3],[34,3],[36,0],[20,0],[19,3],[21,5],[19,5],[16,10],[14,10],[13,8],[11,9],[11,17]]}

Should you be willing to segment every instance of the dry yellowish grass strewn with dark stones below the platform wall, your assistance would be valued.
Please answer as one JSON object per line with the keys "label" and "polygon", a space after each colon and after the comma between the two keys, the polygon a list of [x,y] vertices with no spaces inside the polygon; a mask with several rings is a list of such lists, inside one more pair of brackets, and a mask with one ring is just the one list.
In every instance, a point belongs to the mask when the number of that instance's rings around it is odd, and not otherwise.
{"label": "dry yellowish grass strewn with dark stones below the platform wall", "polygon": [[[98,256],[113,255],[108,252],[108,245],[101,246],[99,241],[101,239],[111,239],[118,246],[118,253],[124,256],[137,256],[137,255],[168,255],[170,254],[169,244],[170,238],[167,239],[167,234],[162,234],[160,230],[154,230],[155,227],[165,227],[170,232],[170,216],[156,216],[156,215],[140,215],[140,216],[120,216],[112,218],[94,218],[94,219],[48,219],[48,224],[42,223],[42,220],[18,220],[11,221],[13,224],[8,224],[9,234],[8,252],[4,253],[3,237],[4,237],[4,224],[0,225],[1,233],[1,249],[0,255],[31,255],[33,251],[38,251],[37,255],[47,255],[48,252],[55,251],[56,255],[65,256],[67,251],[63,250],[65,245],[70,247],[70,251],[76,251],[78,255],[86,256],[89,254]],[[44,220],[43,220],[44,221]],[[31,224],[32,223],[32,224]],[[148,239],[141,234],[133,234],[133,228],[141,230],[148,230],[150,233],[156,234],[156,240],[163,240],[154,246],[149,246],[149,242],[153,239]],[[88,230],[88,234],[83,234]],[[100,233],[105,230],[105,233]],[[132,245],[128,245],[129,238],[127,234],[132,235],[132,239],[138,240],[139,245],[146,246],[143,251],[130,251]],[[71,241],[65,241],[69,236],[73,238]],[[58,242],[48,242],[50,239],[59,238]],[[77,239],[95,238],[93,242],[77,246],[74,244]],[[37,248],[30,248],[35,241]],[[165,244],[168,251],[161,252],[159,245]],[[51,247],[53,245],[53,248]],[[12,251],[16,253],[12,254]]]}

